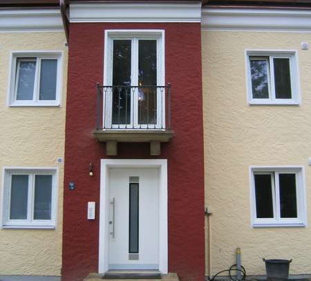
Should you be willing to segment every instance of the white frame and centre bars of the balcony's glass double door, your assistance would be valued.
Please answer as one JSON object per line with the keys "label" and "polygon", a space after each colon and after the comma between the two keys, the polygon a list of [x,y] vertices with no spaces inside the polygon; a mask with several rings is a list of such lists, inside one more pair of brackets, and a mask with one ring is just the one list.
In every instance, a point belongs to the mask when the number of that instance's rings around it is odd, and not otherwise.
{"label": "white frame and centre bars of the balcony's glass double door", "polygon": [[[164,74],[164,30],[105,30],[104,34],[104,86],[112,86],[112,72],[113,72],[113,40],[115,39],[129,39],[132,41],[131,48],[131,86],[138,86],[138,57],[136,52],[138,50],[138,40],[156,40],[157,41],[157,86],[165,85]],[[135,67],[133,67],[135,66]],[[135,70],[133,70],[135,69]],[[107,91],[107,98],[103,100],[103,120],[104,127],[111,128],[112,122],[112,93]],[[138,93],[135,91],[134,99],[131,99],[131,110],[138,113]],[[131,124],[127,125],[129,128],[165,128],[165,90],[160,96],[160,89],[157,90],[157,104],[162,105],[157,110],[157,124],[154,126],[138,125],[138,115],[134,115]],[[131,111],[132,112],[132,111]],[[133,120],[132,120],[133,119]],[[113,125],[112,128],[126,128],[126,125]]]}

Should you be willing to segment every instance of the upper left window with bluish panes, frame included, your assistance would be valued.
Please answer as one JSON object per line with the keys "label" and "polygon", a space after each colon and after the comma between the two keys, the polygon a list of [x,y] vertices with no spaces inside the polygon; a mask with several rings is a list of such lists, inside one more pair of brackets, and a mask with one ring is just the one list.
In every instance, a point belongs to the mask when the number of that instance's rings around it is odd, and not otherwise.
{"label": "upper left window with bluish panes, frame included", "polygon": [[12,54],[10,106],[58,106],[62,53]]}

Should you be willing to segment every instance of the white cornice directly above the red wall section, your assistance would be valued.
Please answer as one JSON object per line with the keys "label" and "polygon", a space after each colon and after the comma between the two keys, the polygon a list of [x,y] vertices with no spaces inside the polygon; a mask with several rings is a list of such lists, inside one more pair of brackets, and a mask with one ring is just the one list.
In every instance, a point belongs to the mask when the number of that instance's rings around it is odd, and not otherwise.
{"label": "white cornice directly above the red wall section", "polygon": [[72,3],[70,22],[200,22],[201,1]]}

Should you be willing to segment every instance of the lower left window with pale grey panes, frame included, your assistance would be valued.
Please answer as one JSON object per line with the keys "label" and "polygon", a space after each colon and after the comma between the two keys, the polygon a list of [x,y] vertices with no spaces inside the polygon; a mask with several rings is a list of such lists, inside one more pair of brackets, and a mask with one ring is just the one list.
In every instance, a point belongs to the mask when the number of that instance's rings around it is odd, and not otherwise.
{"label": "lower left window with pale grey panes, frame included", "polygon": [[3,227],[54,228],[55,169],[5,169]]}

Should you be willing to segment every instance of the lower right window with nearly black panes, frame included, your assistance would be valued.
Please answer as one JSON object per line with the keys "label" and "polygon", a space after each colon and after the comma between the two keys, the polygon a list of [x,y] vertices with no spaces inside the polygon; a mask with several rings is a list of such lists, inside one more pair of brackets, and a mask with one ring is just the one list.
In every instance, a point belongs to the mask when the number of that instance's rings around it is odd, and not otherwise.
{"label": "lower right window with nearly black panes, frame included", "polygon": [[253,226],[304,226],[302,168],[251,168]]}

